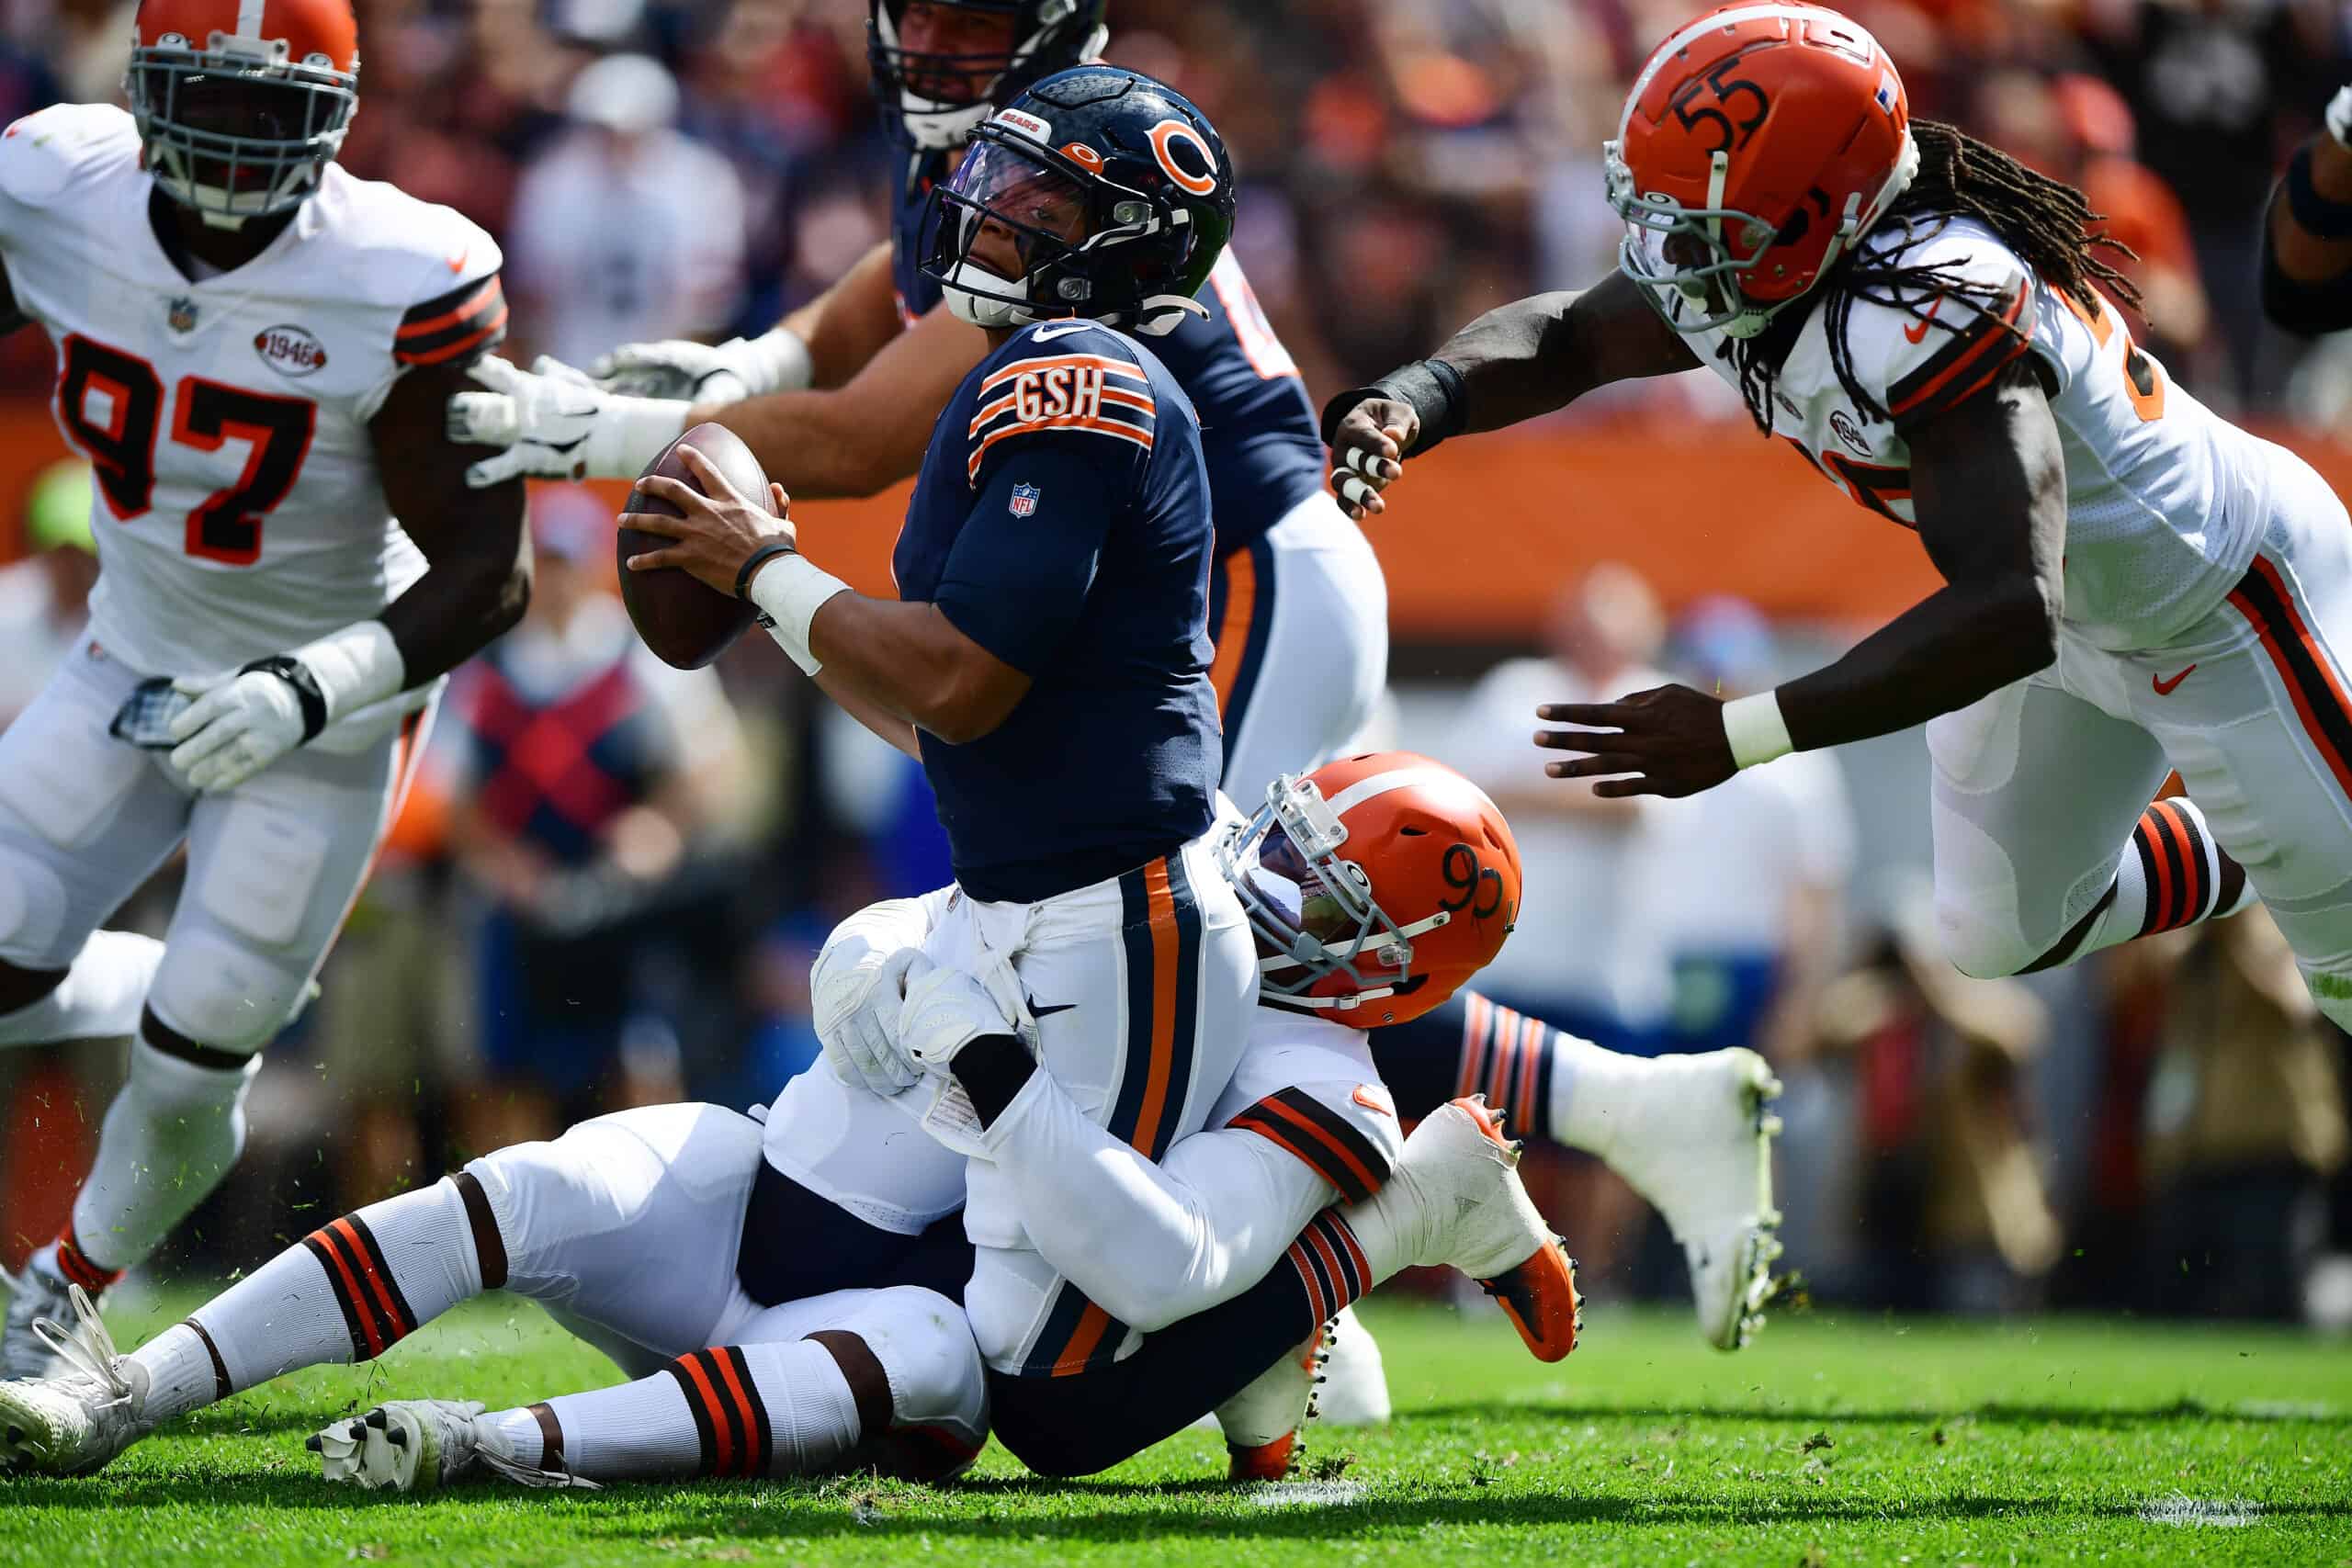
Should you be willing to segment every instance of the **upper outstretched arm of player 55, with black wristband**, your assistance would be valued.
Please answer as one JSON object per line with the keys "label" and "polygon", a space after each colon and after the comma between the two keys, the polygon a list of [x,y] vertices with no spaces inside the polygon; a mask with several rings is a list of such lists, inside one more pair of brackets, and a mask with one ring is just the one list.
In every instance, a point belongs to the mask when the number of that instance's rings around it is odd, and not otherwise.
{"label": "upper outstretched arm of player 55, with black wristband", "polygon": [[1592,388],[1693,369],[1682,334],[1623,273],[1581,294],[1501,306],[1414,360],[1324,404],[1331,484],[1350,517],[1378,515],[1404,458],[1449,435],[1501,430],[1576,402]]}

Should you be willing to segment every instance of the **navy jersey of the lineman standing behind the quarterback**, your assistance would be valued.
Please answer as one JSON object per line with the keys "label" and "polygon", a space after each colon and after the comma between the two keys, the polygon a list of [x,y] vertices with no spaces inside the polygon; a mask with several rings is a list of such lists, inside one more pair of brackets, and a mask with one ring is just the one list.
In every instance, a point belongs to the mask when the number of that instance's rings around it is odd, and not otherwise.
{"label": "navy jersey of the lineman standing behind the quarterback", "polygon": [[[898,317],[910,327],[938,306],[938,282],[922,275],[922,214],[941,167],[936,153],[906,165],[891,221]],[[1209,320],[1188,315],[1150,346],[1200,411],[1200,447],[1216,498],[1216,552],[1230,555],[1322,489],[1324,444],[1305,381],[1265,322],[1232,252],[1216,263],[1200,306]]]}

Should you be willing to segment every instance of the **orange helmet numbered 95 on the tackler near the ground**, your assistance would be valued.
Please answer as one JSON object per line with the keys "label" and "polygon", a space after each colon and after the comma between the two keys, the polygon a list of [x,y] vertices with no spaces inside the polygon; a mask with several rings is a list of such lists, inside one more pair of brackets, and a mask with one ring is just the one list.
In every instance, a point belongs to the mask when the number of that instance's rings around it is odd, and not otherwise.
{"label": "orange helmet numbered 95 on the tackler near the ground", "polygon": [[1519,844],[1475,783],[1414,752],[1277,778],[1221,842],[1263,957],[1261,999],[1371,1030],[1494,961],[1519,917]]}

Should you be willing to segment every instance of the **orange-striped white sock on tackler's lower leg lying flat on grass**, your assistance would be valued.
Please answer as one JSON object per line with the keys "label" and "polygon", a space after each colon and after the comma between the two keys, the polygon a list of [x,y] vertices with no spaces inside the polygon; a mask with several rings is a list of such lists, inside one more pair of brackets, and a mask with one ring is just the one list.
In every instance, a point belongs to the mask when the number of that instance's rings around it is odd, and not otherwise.
{"label": "orange-striped white sock on tackler's lower leg lying flat on grass", "polygon": [[[532,1455],[532,1406],[482,1418]],[[858,1403],[833,1352],[814,1340],[696,1349],[652,1378],[557,1394],[548,1415],[562,1469],[588,1481],[809,1476],[856,1448]],[[524,1425],[529,1422],[529,1427]]]}

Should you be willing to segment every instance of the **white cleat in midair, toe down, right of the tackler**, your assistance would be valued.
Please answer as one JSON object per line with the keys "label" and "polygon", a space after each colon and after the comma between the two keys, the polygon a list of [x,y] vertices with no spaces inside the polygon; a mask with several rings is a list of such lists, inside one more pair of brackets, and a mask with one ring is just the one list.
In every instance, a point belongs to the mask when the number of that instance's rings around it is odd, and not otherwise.
{"label": "white cleat in midair, toe down, right of the tackler", "polygon": [[1661,1056],[1630,1077],[1609,1168],[1665,1215],[1691,1265],[1698,1333],[1738,1349],[1764,1326],[1780,1211],[1771,1140],[1780,1079],[1755,1051]]}

